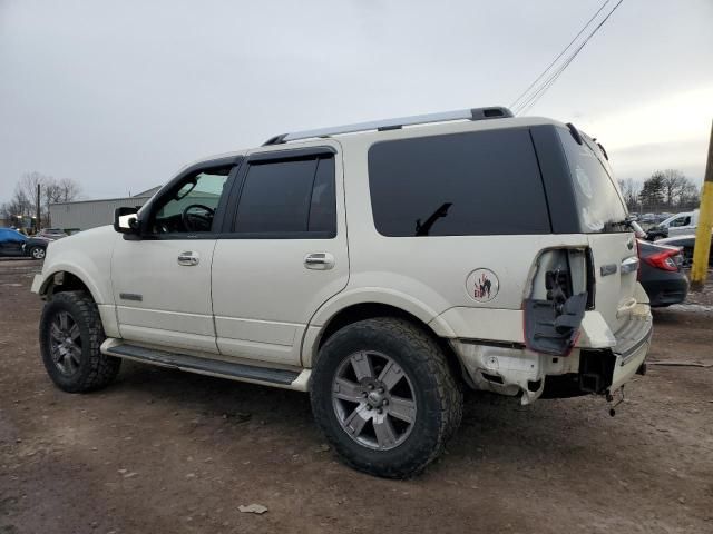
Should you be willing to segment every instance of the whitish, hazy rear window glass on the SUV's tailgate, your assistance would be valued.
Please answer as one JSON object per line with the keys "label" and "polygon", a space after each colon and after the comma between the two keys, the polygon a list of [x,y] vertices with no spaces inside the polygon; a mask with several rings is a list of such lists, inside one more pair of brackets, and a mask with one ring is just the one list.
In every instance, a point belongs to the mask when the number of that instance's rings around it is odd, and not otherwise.
{"label": "whitish, hazy rear window glass on the SUV's tailgate", "polygon": [[582,231],[628,231],[622,224],[626,208],[596,148],[586,140],[577,144],[569,130],[557,128],[557,134],[567,156]]}

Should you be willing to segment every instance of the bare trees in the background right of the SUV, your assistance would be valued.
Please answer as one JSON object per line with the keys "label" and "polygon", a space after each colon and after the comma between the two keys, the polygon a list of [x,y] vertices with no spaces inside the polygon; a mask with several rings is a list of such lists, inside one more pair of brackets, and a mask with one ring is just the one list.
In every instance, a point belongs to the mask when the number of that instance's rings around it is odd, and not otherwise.
{"label": "bare trees in the background right of the SUV", "polygon": [[699,186],[677,169],[656,170],[643,182],[618,180],[629,211],[687,211],[699,207]]}

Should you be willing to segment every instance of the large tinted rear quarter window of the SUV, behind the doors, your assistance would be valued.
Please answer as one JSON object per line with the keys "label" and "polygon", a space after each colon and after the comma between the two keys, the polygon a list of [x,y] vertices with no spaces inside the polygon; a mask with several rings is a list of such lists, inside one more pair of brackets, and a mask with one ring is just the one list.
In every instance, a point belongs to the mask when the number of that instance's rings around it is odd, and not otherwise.
{"label": "large tinted rear quarter window of the SUV, behind the doors", "polygon": [[369,186],[384,236],[550,233],[526,129],[378,142],[369,150]]}

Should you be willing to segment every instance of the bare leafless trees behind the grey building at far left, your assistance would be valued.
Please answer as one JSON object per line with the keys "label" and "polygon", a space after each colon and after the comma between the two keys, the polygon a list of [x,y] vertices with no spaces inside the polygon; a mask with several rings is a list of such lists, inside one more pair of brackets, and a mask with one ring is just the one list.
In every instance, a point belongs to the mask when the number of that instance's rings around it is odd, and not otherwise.
{"label": "bare leafless trees behind the grey building at far left", "polygon": [[40,188],[40,227],[50,227],[49,205],[69,202],[79,198],[81,187],[71,178],[57,179],[41,172],[23,174],[14,187],[12,197],[0,205],[0,216],[17,225],[22,219],[37,216],[37,187]]}

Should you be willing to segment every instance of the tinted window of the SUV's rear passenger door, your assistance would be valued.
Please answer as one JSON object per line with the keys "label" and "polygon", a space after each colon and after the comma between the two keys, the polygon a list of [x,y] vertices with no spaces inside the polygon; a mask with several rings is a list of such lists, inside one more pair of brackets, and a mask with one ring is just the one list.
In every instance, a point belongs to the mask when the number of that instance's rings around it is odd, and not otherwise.
{"label": "tinted window of the SUV's rear passenger door", "polygon": [[294,233],[335,235],[334,158],[251,164],[237,206],[235,231],[266,234],[265,237]]}

